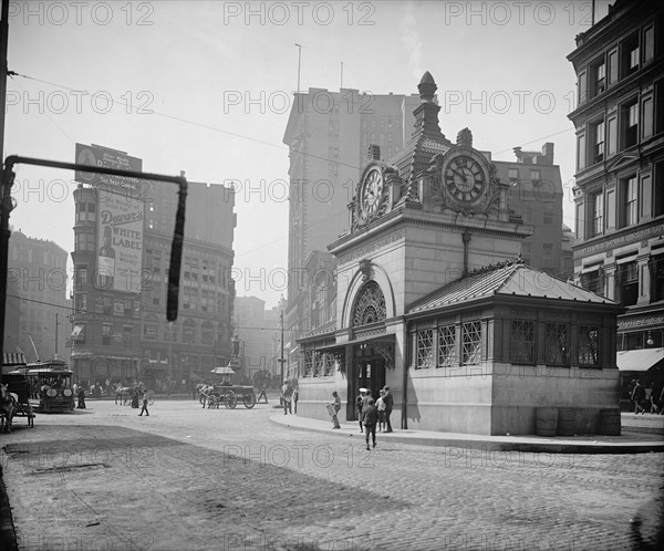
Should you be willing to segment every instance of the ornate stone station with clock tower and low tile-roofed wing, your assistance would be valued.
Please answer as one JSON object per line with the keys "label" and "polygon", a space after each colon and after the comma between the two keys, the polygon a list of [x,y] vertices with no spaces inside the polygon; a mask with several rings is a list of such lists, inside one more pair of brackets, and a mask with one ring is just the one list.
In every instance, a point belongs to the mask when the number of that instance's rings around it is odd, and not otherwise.
{"label": "ornate stone station with clock tower and low tile-roofed wing", "polygon": [[299,340],[299,413],[324,418],[338,391],[354,419],[359,388],[387,385],[396,428],[530,434],[538,407],[583,404],[596,430],[618,404],[620,306],[516,259],[532,229],[509,184],[470,131],[440,132],[429,73],[418,89],[411,141],[387,163],[372,148],[329,246],[336,313]]}

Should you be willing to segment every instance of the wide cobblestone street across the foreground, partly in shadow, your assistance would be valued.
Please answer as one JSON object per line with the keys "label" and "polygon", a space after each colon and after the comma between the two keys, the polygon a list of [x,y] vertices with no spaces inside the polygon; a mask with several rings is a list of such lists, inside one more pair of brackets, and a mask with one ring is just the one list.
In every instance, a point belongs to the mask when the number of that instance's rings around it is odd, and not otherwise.
{"label": "wide cobblestone street across the foreground, partly in shadow", "polygon": [[663,454],[483,453],[289,430],[255,409],[111,402],[20,420],[20,549],[642,549]]}

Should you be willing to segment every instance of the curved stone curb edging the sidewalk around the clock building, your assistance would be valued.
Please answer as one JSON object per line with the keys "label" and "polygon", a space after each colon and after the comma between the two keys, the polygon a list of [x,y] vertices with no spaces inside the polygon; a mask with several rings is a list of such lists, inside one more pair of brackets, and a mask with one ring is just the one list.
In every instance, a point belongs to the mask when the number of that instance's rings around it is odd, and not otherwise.
{"label": "curved stone curb edging the sidewalk around the clock building", "polygon": [[[328,434],[335,437],[353,438],[360,437],[364,440],[364,435],[361,433],[349,433],[345,427],[342,430],[333,430],[332,428],[323,428],[318,426],[307,426],[303,424],[291,424],[286,419],[270,416],[270,422],[282,427],[291,428],[294,430],[307,430],[314,433]],[[547,454],[650,454],[650,453],[664,453],[664,440],[653,441],[615,441],[615,443],[600,443],[600,441],[572,441],[561,439],[553,441],[547,439],[536,439],[538,437],[505,437],[505,436],[487,436],[487,437],[475,437],[477,435],[446,435],[444,433],[432,433],[432,435],[423,434],[424,430],[419,430],[419,435],[400,435],[398,430],[390,435],[384,433],[380,434],[384,441],[393,441],[398,444],[412,444],[415,446],[433,446],[444,447],[453,446],[466,449],[476,449],[478,451],[531,451],[531,453],[547,453]],[[623,432],[624,434],[634,434],[634,438],[639,438],[635,433],[630,430]],[[564,438],[564,437],[561,437]]]}

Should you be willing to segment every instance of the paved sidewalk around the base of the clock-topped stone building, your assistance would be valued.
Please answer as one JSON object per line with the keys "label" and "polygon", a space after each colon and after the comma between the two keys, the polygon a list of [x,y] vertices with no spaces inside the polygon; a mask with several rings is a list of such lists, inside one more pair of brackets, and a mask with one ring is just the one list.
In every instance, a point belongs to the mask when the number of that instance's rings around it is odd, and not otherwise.
{"label": "paved sidewalk around the base of the clock-topped stone building", "polygon": [[[622,417],[621,436],[485,436],[460,433],[437,433],[433,430],[400,430],[377,433],[381,443],[413,444],[417,446],[455,446],[475,448],[483,451],[535,451],[550,454],[644,454],[664,451],[664,435],[639,432],[640,427],[630,426],[630,414]],[[662,419],[661,416],[657,416]],[[660,426],[658,419],[651,424]],[[295,430],[326,433],[341,438],[354,438],[364,443],[357,422],[342,423],[340,430],[332,429],[329,420],[310,419],[298,415],[272,415],[270,420]],[[643,420],[640,416],[640,420]]]}

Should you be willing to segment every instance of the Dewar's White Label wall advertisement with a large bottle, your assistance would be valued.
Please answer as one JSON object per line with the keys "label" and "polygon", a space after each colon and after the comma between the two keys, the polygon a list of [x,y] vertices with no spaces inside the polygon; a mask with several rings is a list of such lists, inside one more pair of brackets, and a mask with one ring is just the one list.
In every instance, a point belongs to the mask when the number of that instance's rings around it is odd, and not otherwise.
{"label": "Dewar's White Label wall advertisement with a large bottle", "polygon": [[141,292],[143,205],[118,194],[100,201],[96,284],[101,289]]}

